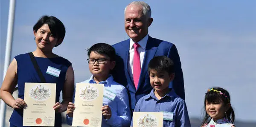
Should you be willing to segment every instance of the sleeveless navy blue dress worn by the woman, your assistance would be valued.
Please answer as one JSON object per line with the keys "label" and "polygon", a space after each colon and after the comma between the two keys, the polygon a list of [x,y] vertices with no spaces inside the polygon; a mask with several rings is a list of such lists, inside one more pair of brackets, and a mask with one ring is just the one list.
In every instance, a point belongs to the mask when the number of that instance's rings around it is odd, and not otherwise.
{"label": "sleeveless navy blue dress worn by the woman", "polygon": [[[31,62],[29,54],[20,54],[15,56],[17,61],[17,85],[18,85],[18,97],[24,99],[24,85],[25,82],[41,82],[38,73],[35,71],[34,65]],[[55,102],[59,102],[60,92],[63,89],[66,79],[67,69],[71,63],[63,57],[43,58],[35,57],[38,66],[43,73],[47,83],[56,83],[56,99]],[[47,68],[51,66],[61,70],[59,77],[47,74]],[[53,106],[53,105],[52,105]],[[12,116],[9,119],[10,127],[25,127],[23,124],[23,109],[15,109],[12,112]],[[55,113],[55,127],[61,127],[61,113]]]}

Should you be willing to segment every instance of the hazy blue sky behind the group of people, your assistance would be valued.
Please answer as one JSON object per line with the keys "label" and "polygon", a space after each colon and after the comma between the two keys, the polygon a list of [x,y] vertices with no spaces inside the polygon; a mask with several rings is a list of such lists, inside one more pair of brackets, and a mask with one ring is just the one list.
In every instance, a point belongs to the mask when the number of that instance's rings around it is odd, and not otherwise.
{"label": "hazy blue sky behind the group of people", "polygon": [[[90,77],[87,48],[128,39],[124,8],[131,0],[16,0],[12,57],[36,48],[33,25],[54,15],[66,27],[54,52],[73,63],[75,82]],[[177,46],[190,117],[201,117],[209,87],[226,88],[236,120],[256,121],[256,1],[145,0],[154,21],[149,35]],[[9,0],[0,1],[0,81],[3,80]],[[1,84],[0,84],[1,85]]]}

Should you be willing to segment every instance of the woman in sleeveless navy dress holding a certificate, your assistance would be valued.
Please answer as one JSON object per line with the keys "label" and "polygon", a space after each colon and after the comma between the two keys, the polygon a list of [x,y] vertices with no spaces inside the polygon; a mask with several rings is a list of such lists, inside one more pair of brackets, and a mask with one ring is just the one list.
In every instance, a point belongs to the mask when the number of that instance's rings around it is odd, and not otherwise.
{"label": "woman in sleeveless navy dress holding a certificate", "polygon": [[[43,16],[33,27],[36,49],[32,52],[46,83],[56,83],[56,98],[52,108],[55,110],[55,127],[61,127],[61,113],[67,110],[68,102],[72,101],[74,90],[74,71],[72,64],[61,56],[52,53],[52,49],[61,44],[65,37],[63,23],[53,16]],[[57,74],[47,73],[48,68],[58,69]],[[49,70],[48,70],[49,71]],[[42,76],[41,76],[42,77]],[[10,127],[23,126],[23,107],[25,82],[43,82],[35,70],[29,53],[15,56],[9,65],[0,89],[3,101],[12,107]],[[18,86],[18,98],[12,93]],[[63,101],[59,102],[62,91]]]}

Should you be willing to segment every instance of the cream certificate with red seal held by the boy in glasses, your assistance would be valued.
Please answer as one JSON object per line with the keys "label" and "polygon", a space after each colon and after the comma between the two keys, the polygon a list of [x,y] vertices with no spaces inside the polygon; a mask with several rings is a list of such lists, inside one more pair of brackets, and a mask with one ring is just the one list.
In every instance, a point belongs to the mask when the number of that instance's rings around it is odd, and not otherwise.
{"label": "cream certificate with red seal held by the boy in glasses", "polygon": [[101,127],[103,84],[77,83],[72,126]]}

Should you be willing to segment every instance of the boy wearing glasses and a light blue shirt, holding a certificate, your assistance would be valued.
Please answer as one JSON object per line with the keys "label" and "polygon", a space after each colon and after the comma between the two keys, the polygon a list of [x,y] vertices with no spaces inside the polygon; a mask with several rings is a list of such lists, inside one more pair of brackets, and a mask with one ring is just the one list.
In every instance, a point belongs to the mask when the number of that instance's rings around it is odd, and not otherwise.
{"label": "boy wearing glasses and a light blue shirt, holding a certificate", "polygon": [[[108,98],[107,95],[103,97],[102,127],[128,127],[131,121],[128,91],[123,85],[115,82],[110,74],[116,64],[115,49],[111,45],[98,43],[90,47],[88,57],[89,70],[93,75],[81,83],[104,84],[104,91],[108,90],[115,94],[114,98]],[[67,124],[69,125],[72,125],[73,110],[75,110],[75,104],[69,102],[67,107]]]}

